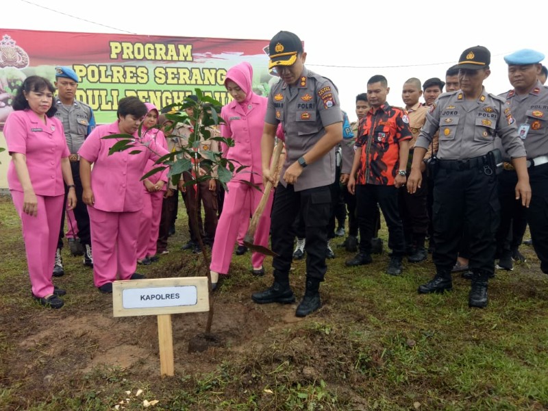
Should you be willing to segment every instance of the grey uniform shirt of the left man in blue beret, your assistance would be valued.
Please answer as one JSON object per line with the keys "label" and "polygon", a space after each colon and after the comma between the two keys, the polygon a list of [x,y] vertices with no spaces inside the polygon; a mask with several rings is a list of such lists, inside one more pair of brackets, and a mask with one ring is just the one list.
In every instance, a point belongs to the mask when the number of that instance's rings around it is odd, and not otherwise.
{"label": "grey uniform shirt of the left man in blue beret", "polygon": [[75,100],[72,105],[64,105],[60,99],[55,99],[57,112],[55,116],[63,123],[66,145],[71,153],[77,153],[84,140],[95,127],[93,110],[82,101]]}

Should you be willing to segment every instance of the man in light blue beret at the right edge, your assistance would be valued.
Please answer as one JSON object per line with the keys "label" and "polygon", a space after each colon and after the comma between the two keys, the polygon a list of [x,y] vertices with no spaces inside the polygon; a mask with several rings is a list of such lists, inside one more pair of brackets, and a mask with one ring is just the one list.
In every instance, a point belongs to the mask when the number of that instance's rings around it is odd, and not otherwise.
{"label": "man in light blue beret at the right edge", "polygon": [[[503,211],[507,213],[503,214],[506,220],[501,221],[501,238],[508,234],[510,224],[507,220],[520,221],[521,212],[525,211],[540,269],[548,274],[548,88],[538,80],[542,70],[540,62],[544,58],[543,53],[531,49],[519,50],[504,58],[508,64],[508,79],[514,88],[501,97],[510,104],[518,134],[527,150],[527,171],[534,195],[526,210],[515,204],[508,187],[516,181],[516,170],[505,162],[501,200]],[[504,157],[504,160],[509,160],[506,153]]]}

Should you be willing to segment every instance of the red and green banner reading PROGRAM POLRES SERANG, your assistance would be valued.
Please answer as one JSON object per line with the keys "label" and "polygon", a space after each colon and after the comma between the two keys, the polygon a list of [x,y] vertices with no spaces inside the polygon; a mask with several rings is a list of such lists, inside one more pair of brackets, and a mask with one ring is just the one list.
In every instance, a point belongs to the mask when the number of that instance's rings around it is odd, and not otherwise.
{"label": "red and green banner reading PROGRAM POLRES SERANG", "polygon": [[0,127],[12,111],[16,87],[29,75],[55,80],[55,66],[79,76],[76,98],[97,123],[116,118],[118,101],[137,96],[158,108],[200,88],[225,105],[227,69],[253,66],[253,89],[268,95],[277,81],[268,70],[269,40],[38,32],[0,28]]}

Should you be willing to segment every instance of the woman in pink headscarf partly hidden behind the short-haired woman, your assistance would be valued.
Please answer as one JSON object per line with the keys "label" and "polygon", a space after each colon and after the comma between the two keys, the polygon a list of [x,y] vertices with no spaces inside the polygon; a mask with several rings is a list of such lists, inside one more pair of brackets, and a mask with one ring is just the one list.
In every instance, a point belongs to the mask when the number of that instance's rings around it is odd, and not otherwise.
{"label": "woman in pink headscarf partly hidden behind the short-haired woman", "polygon": [[[142,142],[155,141],[167,149],[167,141],[164,133],[158,128],[152,128],[158,124],[158,109],[151,103],[145,103],[149,112],[142,121]],[[158,164],[153,160],[147,161],[144,174],[148,173]],[[167,188],[167,171],[155,173],[142,182],[142,213],[140,216],[139,237],[137,239],[137,263],[148,265],[158,261],[156,256],[156,241],[160,230],[160,217],[162,216],[162,202]]]}

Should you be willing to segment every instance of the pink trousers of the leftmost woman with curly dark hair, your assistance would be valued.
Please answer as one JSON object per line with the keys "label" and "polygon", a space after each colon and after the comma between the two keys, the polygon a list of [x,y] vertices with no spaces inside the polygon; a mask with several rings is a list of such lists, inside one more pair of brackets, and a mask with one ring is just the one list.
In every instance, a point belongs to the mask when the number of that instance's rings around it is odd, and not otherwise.
{"label": "pink trousers of the leftmost woman with curly dark hair", "polygon": [[38,215],[34,217],[23,212],[23,192],[12,190],[11,194],[17,214],[21,218],[32,293],[36,297],[46,297],[53,294],[51,277],[64,195],[53,197],[37,195]]}

